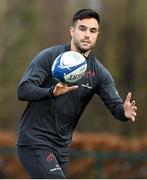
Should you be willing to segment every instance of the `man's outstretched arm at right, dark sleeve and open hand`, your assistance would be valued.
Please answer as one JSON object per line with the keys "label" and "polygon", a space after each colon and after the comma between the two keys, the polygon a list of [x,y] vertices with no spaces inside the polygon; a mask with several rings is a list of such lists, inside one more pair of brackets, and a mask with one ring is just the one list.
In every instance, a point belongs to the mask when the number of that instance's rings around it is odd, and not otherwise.
{"label": "man's outstretched arm at right, dark sleeve and open hand", "polygon": [[105,72],[107,72],[106,78],[100,83],[97,93],[114,117],[123,121],[131,120],[134,122],[137,115],[137,107],[135,101],[131,101],[132,94],[128,93],[123,103],[115,87],[112,76],[108,71],[105,70]]}

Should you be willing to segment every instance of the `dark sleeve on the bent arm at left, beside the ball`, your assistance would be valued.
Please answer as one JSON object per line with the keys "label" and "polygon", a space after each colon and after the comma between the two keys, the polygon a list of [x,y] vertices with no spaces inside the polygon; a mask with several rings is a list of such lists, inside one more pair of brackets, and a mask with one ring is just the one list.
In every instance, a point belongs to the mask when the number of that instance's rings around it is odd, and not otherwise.
{"label": "dark sleeve on the bent arm at left, beside the ball", "polygon": [[47,54],[37,55],[20,81],[17,97],[22,101],[38,101],[53,96],[53,86],[44,87],[43,83],[50,75],[50,64]]}

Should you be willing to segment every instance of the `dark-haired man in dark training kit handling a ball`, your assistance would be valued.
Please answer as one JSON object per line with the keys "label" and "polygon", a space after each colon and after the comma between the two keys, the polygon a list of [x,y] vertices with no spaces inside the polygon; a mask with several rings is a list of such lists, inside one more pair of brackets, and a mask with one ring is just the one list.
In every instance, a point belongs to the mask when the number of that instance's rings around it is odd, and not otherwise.
{"label": "dark-haired man in dark training kit handling a ball", "polygon": [[[117,119],[135,121],[131,93],[122,101],[109,71],[91,52],[99,34],[100,17],[82,9],[73,17],[71,42],[40,52],[24,74],[18,99],[28,101],[17,141],[19,158],[32,178],[65,178],[72,133],[86,105],[98,94]],[[87,60],[87,70],[76,85],[57,82],[51,74],[55,58],[77,51]]]}

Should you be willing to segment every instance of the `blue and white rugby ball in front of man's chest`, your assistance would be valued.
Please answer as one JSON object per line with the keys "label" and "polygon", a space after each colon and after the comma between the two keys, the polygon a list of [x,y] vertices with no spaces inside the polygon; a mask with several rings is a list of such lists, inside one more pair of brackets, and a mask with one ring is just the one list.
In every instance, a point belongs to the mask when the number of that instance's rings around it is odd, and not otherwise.
{"label": "blue and white rugby ball in front of man's chest", "polygon": [[75,51],[60,54],[52,65],[52,75],[63,83],[76,83],[87,69],[85,57]]}

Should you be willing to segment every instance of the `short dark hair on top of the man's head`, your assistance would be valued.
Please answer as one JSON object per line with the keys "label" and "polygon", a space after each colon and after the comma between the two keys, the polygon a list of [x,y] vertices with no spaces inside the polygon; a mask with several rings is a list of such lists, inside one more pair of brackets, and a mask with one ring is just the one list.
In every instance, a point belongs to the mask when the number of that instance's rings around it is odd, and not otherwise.
{"label": "short dark hair on top of the man's head", "polygon": [[94,18],[97,20],[98,24],[100,24],[100,15],[92,9],[81,9],[77,11],[73,17],[72,23],[74,25],[77,20],[82,20],[86,18]]}

